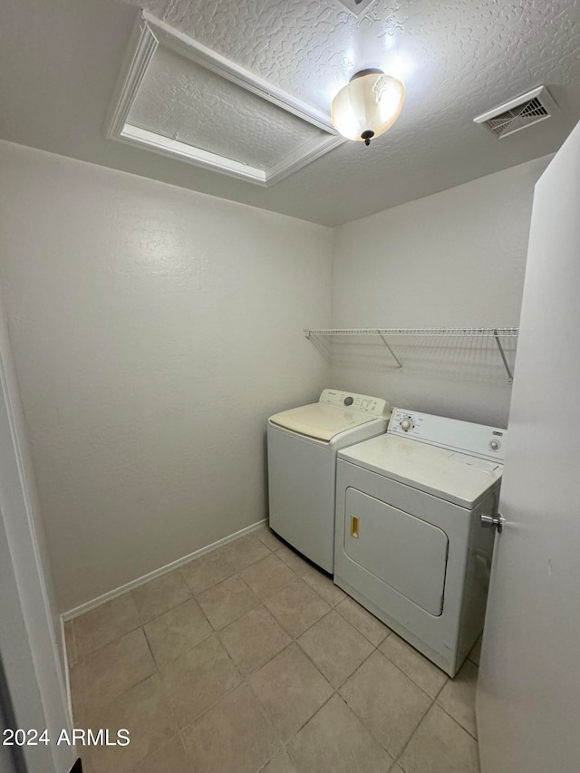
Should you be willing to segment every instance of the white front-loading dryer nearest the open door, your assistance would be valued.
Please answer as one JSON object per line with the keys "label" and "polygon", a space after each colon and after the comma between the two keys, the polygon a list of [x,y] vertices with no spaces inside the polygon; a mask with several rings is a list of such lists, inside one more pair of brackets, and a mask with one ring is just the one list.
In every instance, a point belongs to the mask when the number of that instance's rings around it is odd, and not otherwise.
{"label": "white front-loading dryer nearest the open door", "polygon": [[449,676],[483,630],[506,440],[393,409],[338,453],[334,583]]}

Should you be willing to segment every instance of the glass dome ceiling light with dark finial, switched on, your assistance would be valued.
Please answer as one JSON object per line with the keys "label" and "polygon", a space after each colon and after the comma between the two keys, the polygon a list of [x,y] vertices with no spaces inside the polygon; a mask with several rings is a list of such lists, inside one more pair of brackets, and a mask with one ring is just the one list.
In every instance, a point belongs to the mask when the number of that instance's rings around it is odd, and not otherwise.
{"label": "glass dome ceiling light with dark finial, switched on", "polygon": [[348,140],[371,144],[401,115],[405,87],[382,70],[356,72],[333,99],[331,121]]}

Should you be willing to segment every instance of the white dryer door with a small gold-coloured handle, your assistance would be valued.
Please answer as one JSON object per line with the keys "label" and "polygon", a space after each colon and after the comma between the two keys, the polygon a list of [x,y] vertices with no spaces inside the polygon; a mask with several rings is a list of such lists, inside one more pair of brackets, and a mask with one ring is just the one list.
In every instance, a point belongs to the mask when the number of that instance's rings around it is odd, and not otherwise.
{"label": "white dryer door with a small gold-coloured handle", "polygon": [[346,489],[344,515],[344,553],[439,616],[449,547],[445,532],[356,488]]}

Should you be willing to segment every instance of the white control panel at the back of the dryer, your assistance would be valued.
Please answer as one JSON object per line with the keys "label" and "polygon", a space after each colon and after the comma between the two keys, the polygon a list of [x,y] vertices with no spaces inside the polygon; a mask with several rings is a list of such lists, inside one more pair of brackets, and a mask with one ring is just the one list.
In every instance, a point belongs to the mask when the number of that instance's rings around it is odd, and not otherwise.
{"label": "white control panel at the back of the dryer", "polygon": [[506,455],[507,430],[430,413],[393,408],[387,432],[498,463]]}

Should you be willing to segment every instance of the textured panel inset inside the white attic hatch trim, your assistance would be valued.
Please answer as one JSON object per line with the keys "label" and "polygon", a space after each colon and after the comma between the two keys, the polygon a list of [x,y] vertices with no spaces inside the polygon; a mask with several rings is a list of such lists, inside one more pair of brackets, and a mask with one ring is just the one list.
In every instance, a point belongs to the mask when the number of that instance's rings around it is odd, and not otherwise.
{"label": "textured panel inset inside the white attic hatch trim", "polygon": [[324,132],[235,83],[157,49],[128,121],[258,169]]}

